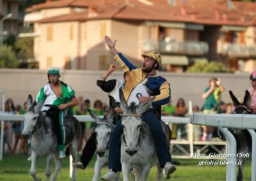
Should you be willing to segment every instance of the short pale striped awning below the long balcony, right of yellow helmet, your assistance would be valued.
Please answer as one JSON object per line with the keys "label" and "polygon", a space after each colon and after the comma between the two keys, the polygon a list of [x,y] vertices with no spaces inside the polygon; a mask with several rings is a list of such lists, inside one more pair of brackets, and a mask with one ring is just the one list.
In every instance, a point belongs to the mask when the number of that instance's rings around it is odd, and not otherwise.
{"label": "short pale striped awning below the long balcony, right of yellow helmet", "polygon": [[188,57],[179,55],[162,55],[162,64],[172,64],[177,66],[187,66]]}

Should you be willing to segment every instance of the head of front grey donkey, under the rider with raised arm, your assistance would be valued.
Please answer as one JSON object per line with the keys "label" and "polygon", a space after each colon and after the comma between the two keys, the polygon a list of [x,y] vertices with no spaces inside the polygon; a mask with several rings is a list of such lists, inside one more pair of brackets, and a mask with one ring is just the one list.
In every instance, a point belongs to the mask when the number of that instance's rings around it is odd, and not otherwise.
{"label": "head of front grey donkey, under the rider with raised arm", "polygon": [[120,103],[121,108],[124,112],[124,117],[122,119],[122,126],[124,129],[123,140],[127,147],[125,152],[130,156],[133,156],[137,152],[137,148],[141,138],[141,126],[142,120],[141,115],[150,108],[154,99],[147,101],[141,105],[135,105],[131,103],[130,106],[127,105],[124,93],[120,89]]}

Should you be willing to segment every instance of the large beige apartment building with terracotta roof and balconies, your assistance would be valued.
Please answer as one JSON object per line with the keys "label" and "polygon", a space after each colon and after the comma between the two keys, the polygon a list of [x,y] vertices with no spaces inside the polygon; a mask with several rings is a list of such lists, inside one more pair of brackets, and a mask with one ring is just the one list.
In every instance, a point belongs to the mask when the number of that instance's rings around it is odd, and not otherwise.
{"label": "large beige apartment building with terracotta roof and balconies", "polygon": [[106,69],[108,35],[134,64],[158,50],[163,70],[186,71],[196,61],[256,68],[255,3],[223,0],[60,0],[28,8],[40,69]]}

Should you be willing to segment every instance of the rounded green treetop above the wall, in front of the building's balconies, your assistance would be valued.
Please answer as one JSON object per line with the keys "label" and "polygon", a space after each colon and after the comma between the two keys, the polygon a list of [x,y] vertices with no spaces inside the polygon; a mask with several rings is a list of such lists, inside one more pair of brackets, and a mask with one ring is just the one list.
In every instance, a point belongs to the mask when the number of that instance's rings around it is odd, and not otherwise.
{"label": "rounded green treetop above the wall, in front of the building's balconies", "polygon": [[198,61],[187,69],[191,73],[231,73],[232,69],[227,68],[223,63],[212,61]]}

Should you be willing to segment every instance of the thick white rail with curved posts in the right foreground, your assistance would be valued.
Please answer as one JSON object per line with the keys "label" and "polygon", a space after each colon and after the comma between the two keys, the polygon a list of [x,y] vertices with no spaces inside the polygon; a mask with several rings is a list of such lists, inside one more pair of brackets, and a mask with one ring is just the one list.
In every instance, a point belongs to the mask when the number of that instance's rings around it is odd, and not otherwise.
{"label": "thick white rail with curved posts in the right foreground", "polygon": [[[221,132],[227,138],[227,154],[236,155],[236,140],[228,131],[227,127],[237,129],[248,129],[252,136],[252,177],[251,180],[256,180],[256,115],[235,115],[235,114],[202,114],[194,113],[190,117],[191,124],[206,125],[220,127]],[[229,163],[236,162],[236,157],[227,157]],[[227,164],[226,180],[236,180],[236,164]]]}

